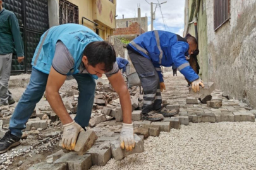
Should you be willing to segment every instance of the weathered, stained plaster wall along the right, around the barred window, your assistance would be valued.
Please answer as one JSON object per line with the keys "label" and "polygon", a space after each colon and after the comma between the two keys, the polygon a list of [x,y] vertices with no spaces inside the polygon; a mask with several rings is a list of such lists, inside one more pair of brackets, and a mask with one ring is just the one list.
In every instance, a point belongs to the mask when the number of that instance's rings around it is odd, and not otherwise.
{"label": "weathered, stained plaster wall along the right, around the barred window", "polygon": [[231,1],[231,19],[214,31],[213,1],[206,1],[208,79],[256,107],[256,0]]}

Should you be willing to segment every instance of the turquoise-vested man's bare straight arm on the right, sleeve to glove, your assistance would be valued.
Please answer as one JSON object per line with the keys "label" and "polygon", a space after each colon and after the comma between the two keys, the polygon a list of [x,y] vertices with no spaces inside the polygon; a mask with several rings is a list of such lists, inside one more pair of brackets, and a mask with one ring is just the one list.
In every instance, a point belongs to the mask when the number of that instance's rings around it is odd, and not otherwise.
{"label": "turquoise-vested man's bare straight arm on the right, sleeve to glove", "polygon": [[121,72],[118,71],[116,74],[107,77],[107,79],[109,79],[111,86],[118,93],[123,111],[123,123],[131,124],[131,98]]}

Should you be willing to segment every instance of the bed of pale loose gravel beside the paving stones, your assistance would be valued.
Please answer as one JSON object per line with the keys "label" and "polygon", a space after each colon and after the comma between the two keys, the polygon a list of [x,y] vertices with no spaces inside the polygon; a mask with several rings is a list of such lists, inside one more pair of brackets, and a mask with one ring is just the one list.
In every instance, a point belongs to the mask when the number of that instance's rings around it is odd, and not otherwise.
{"label": "bed of pale loose gravel beside the paving stones", "polygon": [[145,152],[91,169],[256,169],[256,123],[190,123],[144,141]]}

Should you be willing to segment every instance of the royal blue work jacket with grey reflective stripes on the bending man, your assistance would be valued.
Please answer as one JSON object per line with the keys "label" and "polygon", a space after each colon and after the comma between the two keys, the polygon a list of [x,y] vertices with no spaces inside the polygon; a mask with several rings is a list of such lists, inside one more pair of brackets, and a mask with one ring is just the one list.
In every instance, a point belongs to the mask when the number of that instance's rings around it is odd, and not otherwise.
{"label": "royal blue work jacket with grey reflective stripes on the bending man", "polygon": [[160,65],[164,67],[175,65],[190,82],[199,78],[185,58],[185,55],[188,55],[189,45],[180,35],[168,31],[148,31],[131,41],[127,48],[132,48],[151,60],[160,82],[164,81]]}

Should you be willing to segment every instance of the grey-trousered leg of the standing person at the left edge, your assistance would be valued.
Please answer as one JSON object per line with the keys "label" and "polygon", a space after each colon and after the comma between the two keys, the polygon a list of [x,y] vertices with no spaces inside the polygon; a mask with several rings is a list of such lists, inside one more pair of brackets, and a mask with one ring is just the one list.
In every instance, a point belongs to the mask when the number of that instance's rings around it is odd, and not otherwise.
{"label": "grey-trousered leg of the standing person at the left edge", "polygon": [[8,82],[13,54],[0,55],[0,105],[8,105]]}

